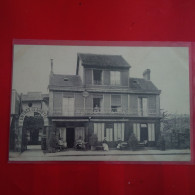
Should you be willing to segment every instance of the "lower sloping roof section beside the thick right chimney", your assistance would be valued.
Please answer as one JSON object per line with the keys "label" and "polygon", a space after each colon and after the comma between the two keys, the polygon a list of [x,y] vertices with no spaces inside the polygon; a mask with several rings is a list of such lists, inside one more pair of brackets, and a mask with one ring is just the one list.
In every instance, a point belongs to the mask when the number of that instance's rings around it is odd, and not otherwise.
{"label": "lower sloping roof section beside the thick right chimney", "polygon": [[129,78],[129,86],[130,86],[130,89],[133,89],[133,90],[148,90],[148,91],[159,90],[152,83],[152,81],[148,81],[142,78]]}

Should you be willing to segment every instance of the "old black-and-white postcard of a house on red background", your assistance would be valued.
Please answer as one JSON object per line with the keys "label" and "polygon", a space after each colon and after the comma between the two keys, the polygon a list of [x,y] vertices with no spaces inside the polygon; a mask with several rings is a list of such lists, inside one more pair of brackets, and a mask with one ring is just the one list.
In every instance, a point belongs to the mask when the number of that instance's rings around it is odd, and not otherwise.
{"label": "old black-and-white postcard of a house on red background", "polygon": [[190,162],[189,46],[13,45],[9,161]]}

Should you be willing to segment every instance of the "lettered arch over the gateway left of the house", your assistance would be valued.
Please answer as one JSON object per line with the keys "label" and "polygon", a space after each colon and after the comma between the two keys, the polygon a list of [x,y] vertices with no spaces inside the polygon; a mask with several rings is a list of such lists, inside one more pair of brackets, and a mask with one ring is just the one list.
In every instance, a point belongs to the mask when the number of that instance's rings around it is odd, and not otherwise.
{"label": "lettered arch over the gateway left of the house", "polygon": [[[45,140],[45,144],[46,144],[46,134],[48,132],[48,127],[49,127],[49,122],[48,122],[48,118],[47,118],[47,113],[42,110],[41,108],[37,108],[37,107],[28,107],[26,110],[24,110],[19,117],[18,120],[18,136],[17,136],[17,142],[16,142],[16,148],[18,151],[23,152],[24,150],[27,149],[27,133],[26,133],[26,127],[24,128],[24,122],[26,122],[27,120],[31,120],[32,122],[32,118],[34,117],[29,117],[29,116],[40,116],[43,120],[43,129],[42,129],[42,138],[44,138]],[[28,119],[27,119],[28,118]],[[36,117],[35,117],[36,118]],[[38,118],[38,117],[37,117]],[[27,121],[27,122],[29,122]],[[38,120],[37,120],[38,121]],[[34,121],[36,122],[36,121]],[[35,124],[35,123],[34,123]],[[32,124],[33,125],[33,122]],[[35,126],[34,129],[37,129],[38,127]],[[32,127],[29,127],[29,130],[32,129]],[[36,130],[34,131],[29,131],[29,133],[32,133],[31,136],[37,136],[37,132]],[[37,137],[36,137],[37,139]],[[40,140],[39,140],[40,141]]]}

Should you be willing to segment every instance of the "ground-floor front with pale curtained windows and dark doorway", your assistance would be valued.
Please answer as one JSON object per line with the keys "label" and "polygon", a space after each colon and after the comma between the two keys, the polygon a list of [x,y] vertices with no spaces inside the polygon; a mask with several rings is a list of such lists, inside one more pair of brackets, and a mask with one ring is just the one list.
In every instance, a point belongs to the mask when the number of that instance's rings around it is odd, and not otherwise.
{"label": "ground-floor front with pale curtained windows and dark doorway", "polygon": [[127,142],[132,134],[138,143],[155,146],[160,132],[159,119],[52,119],[57,139],[74,148],[75,142],[82,139],[89,142],[95,134],[99,143],[106,141],[115,147],[118,141]]}

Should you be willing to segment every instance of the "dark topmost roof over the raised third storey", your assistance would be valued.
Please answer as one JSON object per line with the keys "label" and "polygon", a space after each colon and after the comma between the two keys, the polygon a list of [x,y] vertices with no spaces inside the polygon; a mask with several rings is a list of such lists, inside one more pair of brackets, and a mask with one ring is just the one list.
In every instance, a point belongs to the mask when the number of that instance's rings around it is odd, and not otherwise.
{"label": "dark topmost roof over the raised third storey", "polygon": [[83,66],[98,66],[110,68],[130,68],[131,66],[120,55],[81,54],[78,56]]}

